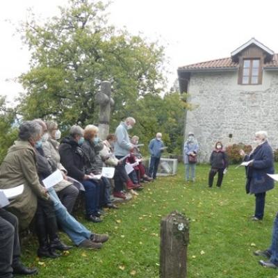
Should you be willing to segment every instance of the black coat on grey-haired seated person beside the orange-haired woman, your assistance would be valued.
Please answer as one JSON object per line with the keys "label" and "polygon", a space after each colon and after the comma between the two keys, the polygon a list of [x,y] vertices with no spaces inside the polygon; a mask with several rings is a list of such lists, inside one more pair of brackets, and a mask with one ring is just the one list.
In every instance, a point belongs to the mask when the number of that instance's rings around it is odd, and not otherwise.
{"label": "black coat on grey-haired seated person beside the orange-haired woman", "polygon": [[60,163],[67,170],[68,176],[83,181],[85,175],[84,153],[72,136],[63,138],[59,147],[59,154]]}

